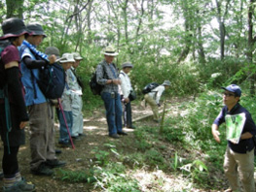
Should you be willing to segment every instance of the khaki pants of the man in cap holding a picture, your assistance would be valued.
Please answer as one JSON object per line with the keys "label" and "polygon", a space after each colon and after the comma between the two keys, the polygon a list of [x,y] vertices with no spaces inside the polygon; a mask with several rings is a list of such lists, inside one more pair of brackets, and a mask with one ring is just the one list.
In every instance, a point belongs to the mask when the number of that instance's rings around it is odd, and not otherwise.
{"label": "khaki pants of the man in cap holding a picture", "polygon": [[227,146],[224,172],[233,191],[240,191],[238,176],[244,192],[254,192],[254,149],[247,153],[237,153]]}

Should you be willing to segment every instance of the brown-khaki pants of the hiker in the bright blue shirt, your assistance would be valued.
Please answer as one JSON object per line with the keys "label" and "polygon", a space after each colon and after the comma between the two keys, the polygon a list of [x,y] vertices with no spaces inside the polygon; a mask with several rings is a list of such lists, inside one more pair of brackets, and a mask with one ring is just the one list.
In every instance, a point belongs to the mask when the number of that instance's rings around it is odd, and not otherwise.
{"label": "brown-khaki pants of the hiker in the bright blue shirt", "polygon": [[28,107],[30,125],[30,169],[36,170],[46,160],[55,159],[54,110],[49,103]]}

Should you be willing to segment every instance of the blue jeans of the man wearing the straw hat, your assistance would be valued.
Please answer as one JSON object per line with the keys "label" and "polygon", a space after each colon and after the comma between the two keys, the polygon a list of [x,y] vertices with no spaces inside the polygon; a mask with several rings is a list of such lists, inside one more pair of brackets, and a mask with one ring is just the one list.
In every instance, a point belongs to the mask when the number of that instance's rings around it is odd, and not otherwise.
{"label": "blue jeans of the man wearing the straw hat", "polygon": [[116,93],[111,97],[111,93],[103,92],[101,98],[104,101],[108,124],[108,134],[113,135],[122,132],[122,103],[120,94]]}

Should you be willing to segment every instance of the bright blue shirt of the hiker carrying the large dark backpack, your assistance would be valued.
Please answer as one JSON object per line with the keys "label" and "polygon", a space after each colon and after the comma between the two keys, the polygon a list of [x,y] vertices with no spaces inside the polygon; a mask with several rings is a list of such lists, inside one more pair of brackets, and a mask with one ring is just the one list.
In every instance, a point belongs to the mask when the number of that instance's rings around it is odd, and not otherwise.
{"label": "bright blue shirt of the hiker carrying the large dark backpack", "polygon": [[47,102],[45,95],[42,93],[37,83],[37,80],[39,80],[39,69],[28,69],[23,62],[25,56],[36,60],[35,55],[23,44],[20,46],[19,51],[21,57],[21,80],[25,88],[26,106]]}

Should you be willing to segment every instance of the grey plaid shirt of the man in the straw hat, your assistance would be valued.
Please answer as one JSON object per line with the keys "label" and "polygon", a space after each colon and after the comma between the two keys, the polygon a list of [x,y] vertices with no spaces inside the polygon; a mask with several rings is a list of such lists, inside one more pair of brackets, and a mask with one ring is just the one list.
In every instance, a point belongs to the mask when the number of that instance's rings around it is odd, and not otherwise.
{"label": "grey plaid shirt of the man in the straw hat", "polygon": [[[115,75],[113,71],[115,72]],[[119,86],[117,84],[106,84],[107,80],[114,80],[114,79],[120,79],[119,78],[119,72],[116,69],[115,65],[113,63],[108,64],[106,60],[102,60],[98,65],[96,69],[96,77],[97,77],[97,83],[104,85],[104,88],[101,92],[119,92]]]}

